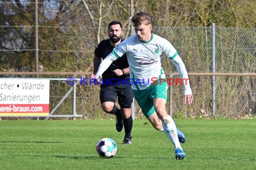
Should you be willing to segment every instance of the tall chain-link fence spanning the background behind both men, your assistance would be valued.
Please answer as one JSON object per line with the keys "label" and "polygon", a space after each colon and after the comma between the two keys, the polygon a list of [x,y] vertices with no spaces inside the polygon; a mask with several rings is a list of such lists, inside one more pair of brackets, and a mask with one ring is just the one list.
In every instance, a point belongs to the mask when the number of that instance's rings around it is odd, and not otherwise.
{"label": "tall chain-link fence spanning the background behind both men", "polygon": [[[23,2],[23,1],[22,1]],[[48,2],[48,1],[47,1]],[[35,3],[20,4],[0,2],[3,16],[0,18],[0,72],[91,72],[93,51],[99,39],[107,38],[107,27],[94,29],[86,21],[62,16],[58,26],[51,17],[55,9],[45,1],[39,4],[38,20],[35,20]],[[13,6],[22,5],[26,13],[18,13]],[[27,7],[26,7],[27,6]],[[62,5],[64,8],[65,5]],[[71,8],[71,7],[69,7]],[[78,11],[77,13],[81,13]],[[23,15],[17,17],[17,13]],[[37,22],[38,21],[38,24]],[[65,24],[64,24],[65,23]],[[85,23],[85,25],[81,25]],[[125,26],[126,36],[131,35]],[[93,30],[93,31],[91,31]],[[162,27],[154,26],[154,34],[168,39],[177,49],[188,72],[256,72],[256,29],[210,27]],[[124,37],[124,38],[125,38]],[[165,72],[177,72],[171,61],[163,56]],[[36,77],[28,75],[0,75],[2,77]],[[82,75],[86,76],[86,75]],[[59,75],[40,75],[41,78],[65,78]],[[79,78],[79,77],[78,77]],[[63,82],[62,82],[63,83]],[[65,83],[65,82],[64,82]],[[256,113],[255,76],[191,76],[190,84],[195,96],[194,106],[182,104],[182,87],[173,87],[173,115],[250,115]],[[216,91],[212,92],[212,86]],[[62,98],[62,85],[57,85],[51,98]],[[65,87],[66,88],[66,87]],[[77,114],[92,118],[102,114],[98,87],[77,88]],[[216,106],[212,102],[216,100]],[[169,106],[169,101],[168,105]],[[66,106],[68,105],[68,102]],[[84,108],[86,105],[86,108]],[[216,110],[213,108],[216,107]],[[141,110],[136,107],[137,116]],[[169,109],[169,108],[168,108]],[[58,110],[57,110],[58,112]],[[59,110],[62,115],[65,108]],[[93,113],[93,116],[92,116]]]}

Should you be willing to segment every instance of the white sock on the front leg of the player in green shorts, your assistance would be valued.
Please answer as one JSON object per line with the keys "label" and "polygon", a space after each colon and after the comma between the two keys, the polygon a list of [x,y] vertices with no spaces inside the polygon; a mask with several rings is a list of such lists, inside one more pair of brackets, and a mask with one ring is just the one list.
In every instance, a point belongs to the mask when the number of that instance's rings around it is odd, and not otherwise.
{"label": "white sock on the front leg of the player in green shorts", "polygon": [[168,138],[171,140],[172,144],[174,145],[174,149],[181,148],[181,144],[178,139],[178,134],[177,134],[177,128],[176,125],[170,115],[165,117],[162,120],[162,125],[163,125],[163,130],[165,134],[168,136]]}

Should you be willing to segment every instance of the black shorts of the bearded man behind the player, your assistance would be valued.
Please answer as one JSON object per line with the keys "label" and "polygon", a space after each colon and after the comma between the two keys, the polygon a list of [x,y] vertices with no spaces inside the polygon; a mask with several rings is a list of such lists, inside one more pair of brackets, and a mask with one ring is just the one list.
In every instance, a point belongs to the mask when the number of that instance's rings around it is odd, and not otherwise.
{"label": "black shorts of the bearded man behind the player", "polygon": [[133,91],[130,85],[102,85],[100,101],[114,102],[118,97],[118,104],[121,108],[131,108]]}

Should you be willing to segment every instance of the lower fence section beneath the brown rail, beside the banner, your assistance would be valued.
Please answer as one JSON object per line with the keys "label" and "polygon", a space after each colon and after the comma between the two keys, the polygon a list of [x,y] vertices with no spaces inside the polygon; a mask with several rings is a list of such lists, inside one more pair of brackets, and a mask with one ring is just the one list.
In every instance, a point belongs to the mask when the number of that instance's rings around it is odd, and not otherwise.
{"label": "lower fence section beneath the brown rail, beside the banner", "polygon": [[[1,72],[5,77],[7,74],[13,77],[35,76],[35,72]],[[34,74],[33,74],[34,73]],[[113,116],[104,114],[99,102],[99,86],[82,83],[79,75],[84,72],[38,72],[38,74],[49,75],[70,75],[77,77],[75,86],[68,85],[66,78],[48,78],[50,81],[50,117],[81,117],[84,119],[111,119]],[[77,76],[75,76],[77,75]],[[177,78],[178,73],[168,73],[167,78]],[[255,114],[255,88],[248,88],[254,85],[256,73],[189,73],[190,83],[194,94],[194,104],[185,106],[182,102],[181,85],[169,85],[168,102],[166,109],[169,114],[177,118],[196,118],[214,116],[233,118],[252,118]],[[212,98],[213,87],[212,76],[216,76],[216,99]],[[0,78],[3,81],[6,78]],[[17,79],[17,78],[16,78]],[[45,79],[45,78],[43,78]],[[84,79],[84,76],[83,76]],[[222,85],[223,82],[230,85]],[[193,84],[197,85],[193,85]],[[75,89],[74,89],[75,87]],[[1,91],[1,90],[0,90]],[[134,119],[143,117],[137,102],[133,102],[132,116]],[[118,103],[116,103],[118,105]],[[212,112],[212,110],[216,113]],[[14,116],[12,116],[14,117]],[[35,117],[35,116],[33,116]],[[46,119],[49,119],[47,117]]]}

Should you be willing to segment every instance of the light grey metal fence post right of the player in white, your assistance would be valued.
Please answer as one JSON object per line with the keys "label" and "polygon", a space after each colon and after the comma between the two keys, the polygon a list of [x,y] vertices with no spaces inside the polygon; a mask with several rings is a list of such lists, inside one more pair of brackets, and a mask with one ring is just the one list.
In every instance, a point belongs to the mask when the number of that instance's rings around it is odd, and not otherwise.
{"label": "light grey metal fence post right of the player in white", "polygon": [[[212,72],[215,73],[215,23],[212,24]],[[215,116],[215,76],[212,76],[212,116]]]}

